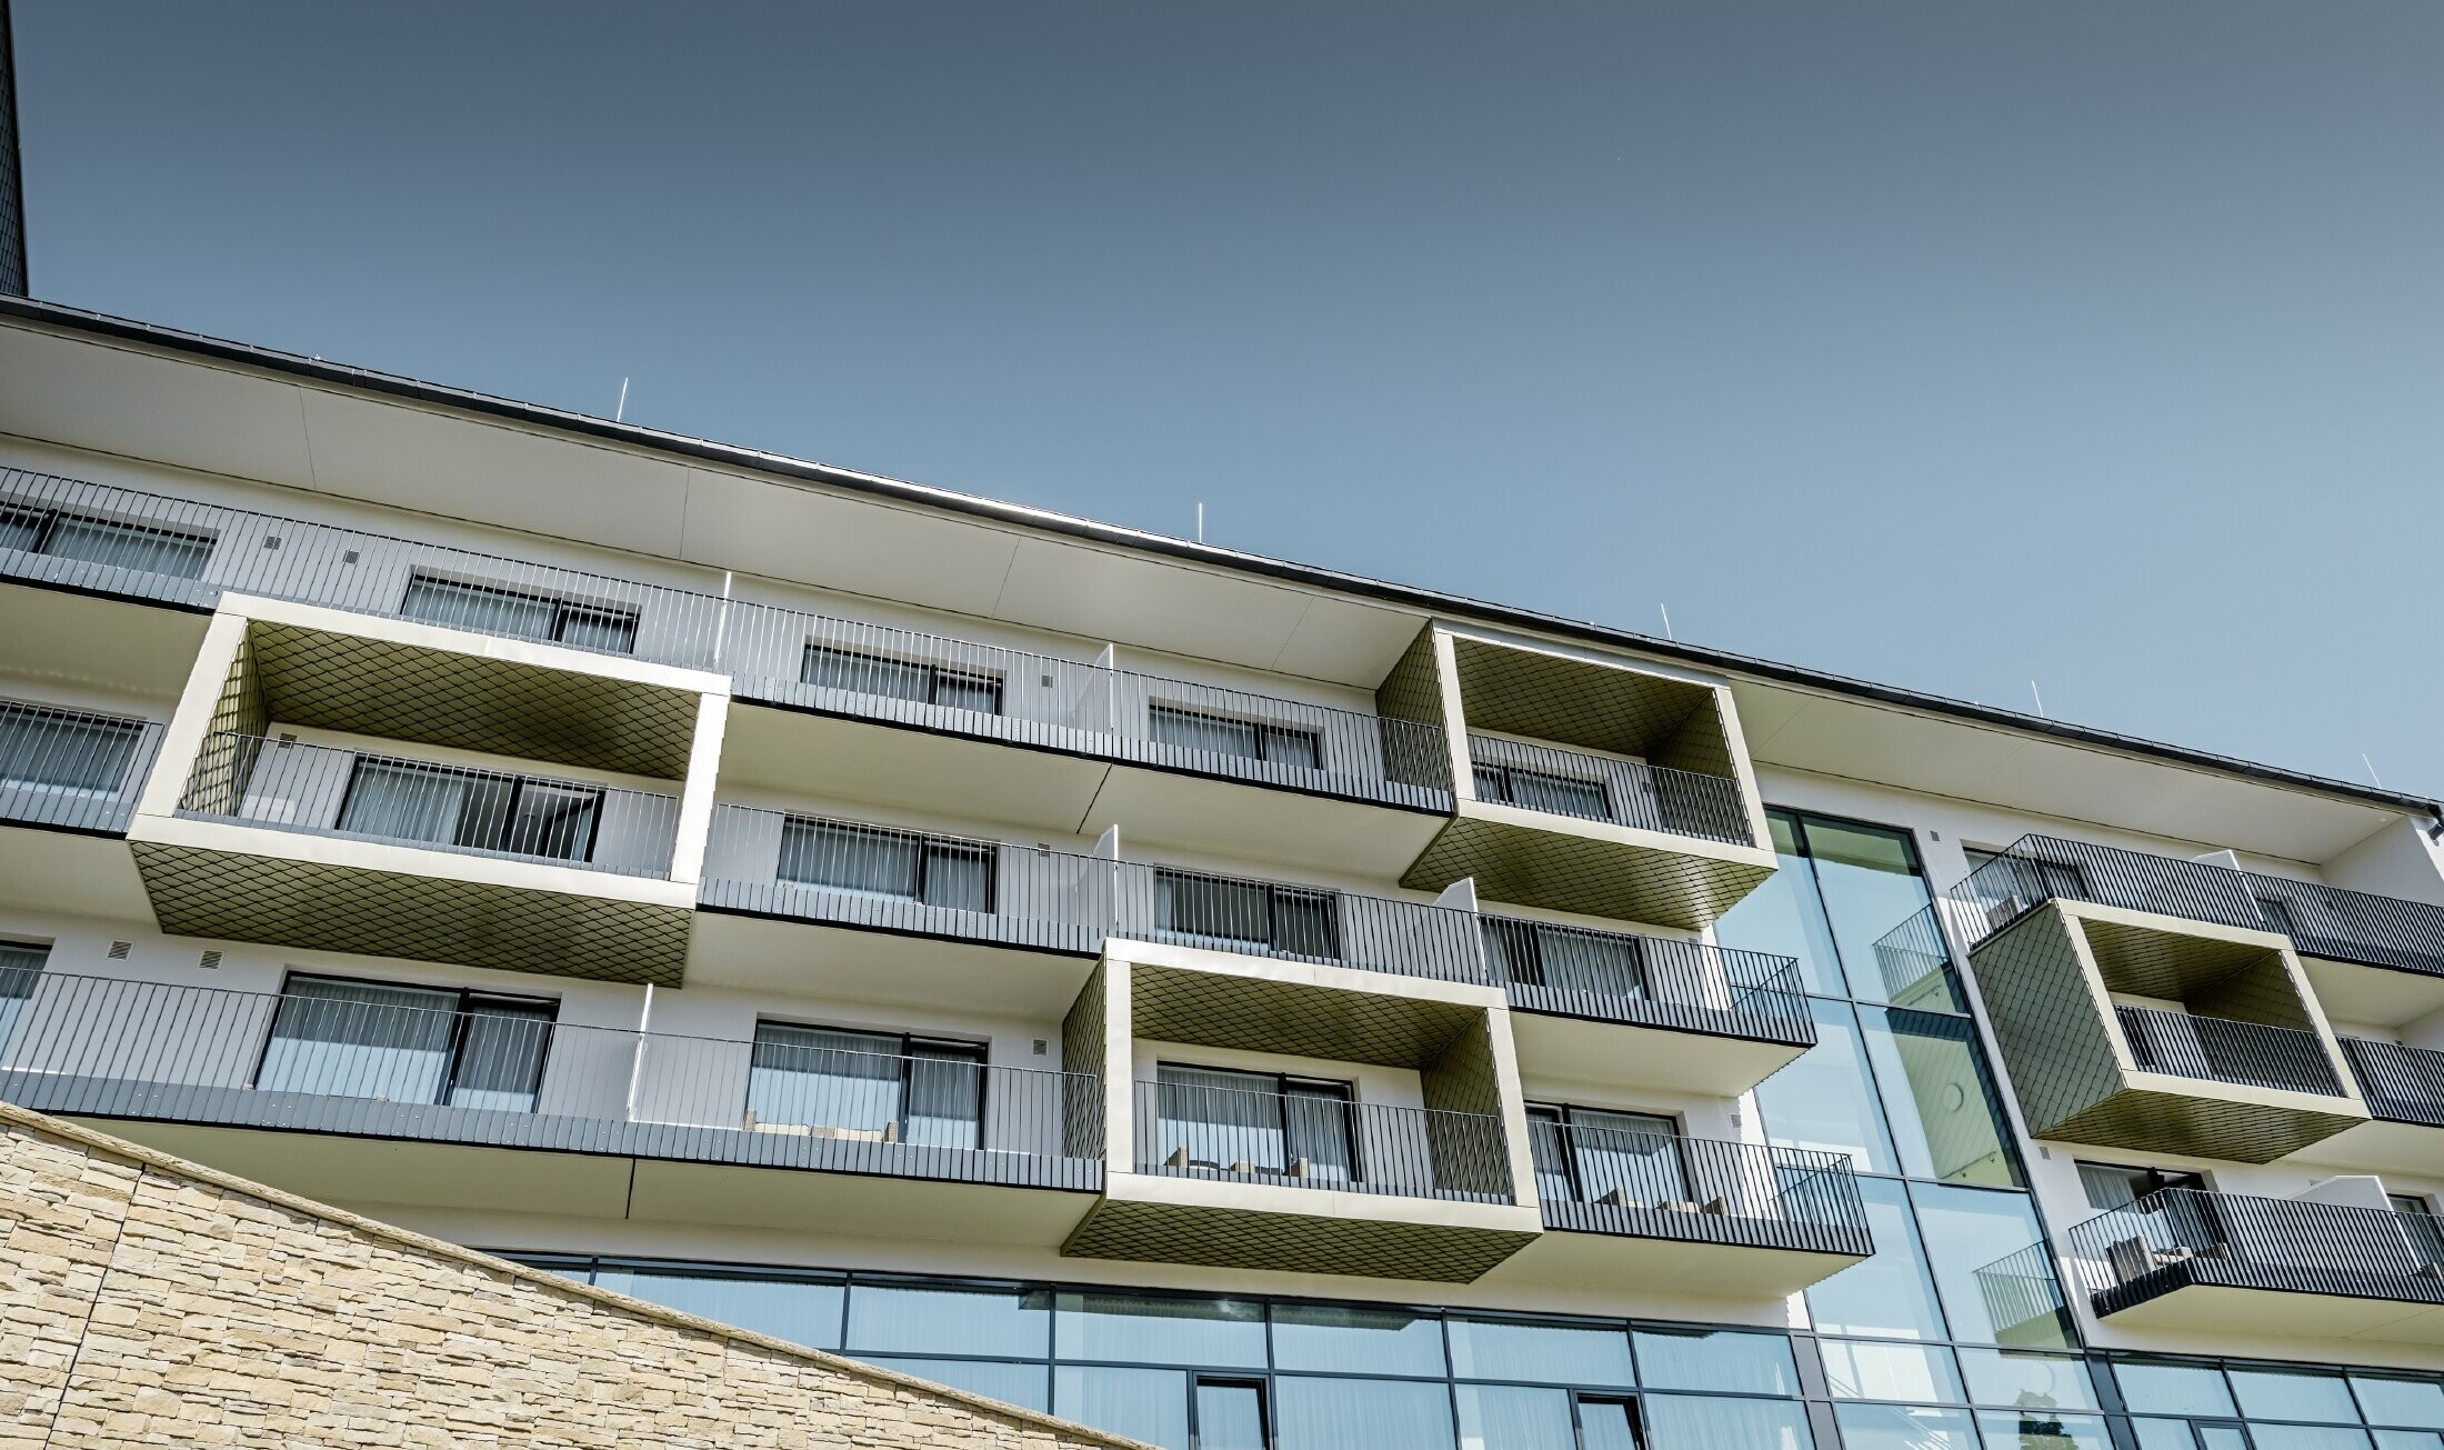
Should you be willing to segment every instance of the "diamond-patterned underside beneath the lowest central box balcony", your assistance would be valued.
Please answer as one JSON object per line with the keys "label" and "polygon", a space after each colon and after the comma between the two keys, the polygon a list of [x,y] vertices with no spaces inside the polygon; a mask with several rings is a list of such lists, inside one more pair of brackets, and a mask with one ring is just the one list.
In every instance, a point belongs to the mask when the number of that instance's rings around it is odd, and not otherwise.
{"label": "diamond-patterned underside beneath the lowest central box balcony", "polygon": [[1061,1252],[1073,1259],[1469,1284],[1535,1237],[1486,1227],[1105,1198]]}

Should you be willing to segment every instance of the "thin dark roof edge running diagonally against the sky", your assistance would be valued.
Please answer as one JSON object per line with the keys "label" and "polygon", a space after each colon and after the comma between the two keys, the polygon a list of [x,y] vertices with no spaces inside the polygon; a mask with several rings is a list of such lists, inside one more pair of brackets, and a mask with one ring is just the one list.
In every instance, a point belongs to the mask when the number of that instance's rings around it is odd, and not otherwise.
{"label": "thin dark roof edge running diagonally against the sky", "polygon": [[2256,760],[2241,760],[2236,756],[2219,756],[2214,751],[2195,751],[2187,746],[2173,746],[2165,741],[2148,741],[2143,736],[2124,736],[2117,731],[2080,726],[2070,721],[2046,719],[2038,714],[2024,714],[2014,709],[1999,709],[1992,704],[1977,704],[1970,699],[1953,699],[1948,694],[1931,694],[1923,690],[1906,690],[1899,685],[1877,685],[1872,680],[1855,680],[1848,675],[1835,675],[1828,670],[1811,670],[1804,665],[1784,665],[1779,660],[1762,660],[1755,655],[1740,655],[1733,650],[1716,650],[1706,646],[1691,646],[1672,638],[1657,638],[1637,633],[1630,628],[1613,628],[1584,619],[1562,619],[1554,614],[1540,614],[1535,609],[1518,609],[1510,604],[1493,604],[1486,599],[1469,599],[1464,594],[1444,594],[1440,589],[1425,589],[1418,584],[1396,584],[1388,580],[1371,580],[1366,575],[1349,575],[1342,570],[1330,570],[1322,565],[1303,565],[1293,560],[1276,560],[1268,555],[1254,555],[1242,550],[1229,550],[1210,543],[1190,543],[1185,538],[1171,538],[1166,533],[1151,533],[1141,528],[1124,528],[1117,523],[1100,523],[1095,518],[1080,518],[1073,513],[1056,513],[1051,509],[1031,509],[1026,504],[1009,504],[1002,499],[985,499],[978,494],[960,494],[956,489],[941,489],[934,484],[916,484],[909,479],[895,479],[887,474],[868,474],[858,469],[846,469],[824,462],[809,462],[799,457],[787,457],[780,452],[765,452],[755,447],[743,447],[733,443],[716,443],[709,438],[692,438],[687,433],[665,433],[660,428],[645,428],[638,423],[618,423],[611,418],[596,418],[591,413],[572,413],[567,408],[550,408],[543,403],[523,403],[516,399],[501,399],[494,394],[479,394],[469,389],[457,389],[447,384],[433,384],[413,377],[376,372],[369,367],[349,367],[337,362],[325,362],[320,357],[298,357],[296,352],[279,352],[274,347],[257,347],[252,342],[230,342],[225,337],[208,337],[203,333],[183,333],[176,328],[161,328],[156,323],[139,323],[132,318],[115,318],[110,313],[95,313],[90,308],[71,308],[64,303],[49,303],[42,298],[5,296],[0,293],[0,318],[17,318],[27,323],[42,323],[51,328],[64,328],[73,333],[88,333],[95,337],[112,337],[120,342],[139,342],[147,347],[159,347],[166,352],[181,352],[188,357],[203,357],[213,362],[235,362],[242,367],[259,367],[266,372],[279,372],[298,379],[327,381],[340,386],[354,386],[371,394],[384,394],[391,399],[406,399],[418,403],[433,403],[445,408],[462,408],[469,413],[501,418],[511,423],[523,423],[533,428],[552,428],[560,433],[574,433],[579,438],[594,438],[601,443],[616,443],[623,447],[640,447],[650,452],[662,452],[672,457],[716,462],[728,467],[745,467],[765,474],[777,474],[782,479],[794,479],[804,484],[821,484],[833,489],[848,489],[870,494],[877,499],[892,499],[899,504],[916,504],[924,509],[941,509],[948,513],[965,513],[970,518],[985,518],[992,523],[1007,523],[1017,528],[1034,528],[1044,533],[1056,533],[1063,538],[1078,538],[1088,543],[1127,548],[1154,553],[1183,562],[1198,562],[1222,570],[1237,570],[1244,575],[1256,575],[1266,580],[1281,580],[1317,589],[1334,589],[1342,594],[1354,594],[1378,604],[1393,604],[1400,609],[1415,609],[1430,616],[1459,616],[1476,624],[1491,624],[1498,628],[1520,628],[1535,633],[1549,633],[1557,638],[1591,643],[1603,648],[1630,648],[1647,655],[1662,655],[1686,665],[1699,665],[1708,670],[1728,670],[1738,675],[1752,675],[1757,680],[1794,685],[1801,690],[1821,690],[1826,694],[1848,694],[1867,699],[1875,704],[1889,704],[1899,709],[1916,709],[1928,714],[1943,714],[1972,724],[2021,731],[2031,736],[2048,736],[2055,741],[2126,751],[2134,756],[2148,756],[2156,760],[2168,760],[2175,765],[2187,765],[2195,770],[2217,770],[2224,775],[2241,775],[2266,785],[2280,785],[2288,790],[2312,790],[2319,795],[2334,795],[2344,800],[2356,800],[2361,804],[2376,804],[2383,809],[2398,809],[2407,814],[2424,814],[2444,822],[2444,804],[2424,795],[2410,795],[2398,790],[2385,790],[2376,785],[2358,785],[2354,780],[2334,780],[2329,775],[2310,775],[2305,770],[2288,770],[2280,765],[2263,765]]}

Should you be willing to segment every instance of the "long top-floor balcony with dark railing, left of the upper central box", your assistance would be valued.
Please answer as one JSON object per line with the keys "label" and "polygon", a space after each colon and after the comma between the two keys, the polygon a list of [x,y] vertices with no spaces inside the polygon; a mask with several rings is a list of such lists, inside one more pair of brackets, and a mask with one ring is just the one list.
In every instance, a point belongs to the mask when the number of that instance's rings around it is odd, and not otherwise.
{"label": "long top-floor balcony with dark railing, left of the upper central box", "polygon": [[[1092,814],[1097,831],[1124,817],[1146,839],[1317,866],[1383,851],[1391,873],[1452,802],[1432,724],[1124,670],[1112,650],[1068,660],[17,469],[0,472],[0,580],[196,611],[281,599],[711,670],[797,716],[741,721],[750,768],[816,758],[831,787],[919,809]],[[1046,760],[1014,773],[980,746]]]}

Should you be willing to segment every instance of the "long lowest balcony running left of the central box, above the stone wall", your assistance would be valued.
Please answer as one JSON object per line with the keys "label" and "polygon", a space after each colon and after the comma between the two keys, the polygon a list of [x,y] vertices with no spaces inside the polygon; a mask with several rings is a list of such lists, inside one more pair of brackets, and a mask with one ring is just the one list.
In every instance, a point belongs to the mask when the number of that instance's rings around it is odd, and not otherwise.
{"label": "long lowest balcony running left of the central box, above the stone wall", "polygon": [[1102,1103],[1078,1073],[584,1027],[547,1000],[384,983],[0,976],[0,1100],[325,1201],[1051,1247],[1102,1186]]}

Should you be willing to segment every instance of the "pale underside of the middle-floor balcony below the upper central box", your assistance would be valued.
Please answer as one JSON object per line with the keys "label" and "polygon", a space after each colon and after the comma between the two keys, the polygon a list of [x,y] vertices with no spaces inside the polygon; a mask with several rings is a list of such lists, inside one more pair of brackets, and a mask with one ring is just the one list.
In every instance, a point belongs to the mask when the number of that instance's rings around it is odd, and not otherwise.
{"label": "pale underside of the middle-floor balcony below the upper central box", "polygon": [[1791,1042],[1804,1022],[1767,1037],[1767,1022],[1701,1007],[1613,998],[1618,1017],[1606,1020],[1547,1012],[1523,993],[1540,988],[1510,988],[1510,1037],[1537,1076],[1735,1098],[1806,1051]]}

